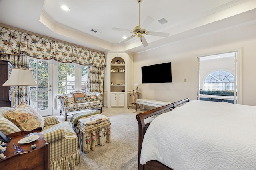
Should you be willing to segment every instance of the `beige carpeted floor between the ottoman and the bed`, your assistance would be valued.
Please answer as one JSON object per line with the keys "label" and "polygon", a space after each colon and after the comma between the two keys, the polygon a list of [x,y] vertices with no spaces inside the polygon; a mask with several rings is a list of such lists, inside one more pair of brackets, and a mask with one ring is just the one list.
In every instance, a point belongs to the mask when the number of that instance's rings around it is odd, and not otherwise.
{"label": "beige carpeted floor between the ottoman and the bed", "polygon": [[[102,114],[110,118],[111,143],[97,145],[89,153],[80,151],[81,162],[75,170],[137,170],[138,123],[133,112],[132,108],[103,107]],[[64,121],[63,116],[58,118]]]}

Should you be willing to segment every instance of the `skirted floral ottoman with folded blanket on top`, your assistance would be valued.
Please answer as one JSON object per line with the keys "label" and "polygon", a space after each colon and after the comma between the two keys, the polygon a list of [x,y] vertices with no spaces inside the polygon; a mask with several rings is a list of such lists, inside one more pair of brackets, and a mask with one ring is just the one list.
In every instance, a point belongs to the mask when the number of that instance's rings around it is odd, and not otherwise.
{"label": "skirted floral ottoman with folded blanket on top", "polygon": [[70,121],[78,136],[78,147],[85,153],[94,150],[95,146],[111,143],[110,121],[105,115],[96,110],[85,110],[74,114]]}

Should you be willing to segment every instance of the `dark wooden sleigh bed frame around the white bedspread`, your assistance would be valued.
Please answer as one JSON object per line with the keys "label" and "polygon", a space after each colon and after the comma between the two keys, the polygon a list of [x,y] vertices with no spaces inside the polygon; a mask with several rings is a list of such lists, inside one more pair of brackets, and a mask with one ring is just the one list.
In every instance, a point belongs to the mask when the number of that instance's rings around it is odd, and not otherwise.
{"label": "dark wooden sleigh bed frame around the white bedspread", "polygon": [[176,108],[176,106],[178,106],[180,104],[184,104],[189,101],[190,101],[189,98],[186,98],[184,100],[180,100],[178,102],[174,102],[174,103],[171,103],[171,104],[168,104],[168,105],[165,105],[162,107],[158,107],[156,109],[149,110],[144,113],[140,113],[140,114],[136,115],[136,119],[137,119],[138,125],[139,125],[138,170],[173,170],[172,168],[169,168],[166,165],[164,165],[158,161],[155,161],[155,160],[148,161],[144,165],[140,164],[140,153],[141,153],[143,138],[144,138],[144,135],[146,133],[148,126],[150,125],[150,122],[145,124],[144,119],[151,117],[153,115],[156,115],[158,113],[161,113],[165,110],[174,109],[174,108]]}

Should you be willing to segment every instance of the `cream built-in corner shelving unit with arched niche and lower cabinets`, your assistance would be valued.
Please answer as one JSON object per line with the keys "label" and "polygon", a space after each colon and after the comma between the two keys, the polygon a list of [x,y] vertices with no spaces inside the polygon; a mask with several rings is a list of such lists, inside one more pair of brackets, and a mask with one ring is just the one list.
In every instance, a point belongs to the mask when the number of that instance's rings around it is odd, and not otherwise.
{"label": "cream built-in corner shelving unit with arched niche and lower cabinets", "polygon": [[126,52],[105,53],[104,107],[127,107],[127,92],[132,82],[132,55]]}

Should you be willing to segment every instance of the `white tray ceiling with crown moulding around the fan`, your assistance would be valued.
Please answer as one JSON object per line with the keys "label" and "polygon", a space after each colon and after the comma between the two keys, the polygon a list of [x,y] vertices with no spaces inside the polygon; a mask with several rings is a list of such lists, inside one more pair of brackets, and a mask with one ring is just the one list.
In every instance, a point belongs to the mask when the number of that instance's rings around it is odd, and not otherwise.
{"label": "white tray ceiling with crown moulding around the fan", "polygon": [[[61,5],[70,11],[63,11]],[[170,36],[146,35],[149,45],[143,47],[138,37],[118,44],[133,33],[112,30],[132,30],[138,25],[137,0],[0,0],[1,24],[98,51],[134,53],[256,23],[256,0],[143,0],[140,25],[148,16],[155,20],[142,29]],[[168,23],[161,25],[162,18]]]}

